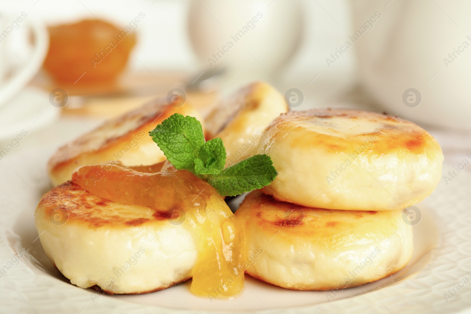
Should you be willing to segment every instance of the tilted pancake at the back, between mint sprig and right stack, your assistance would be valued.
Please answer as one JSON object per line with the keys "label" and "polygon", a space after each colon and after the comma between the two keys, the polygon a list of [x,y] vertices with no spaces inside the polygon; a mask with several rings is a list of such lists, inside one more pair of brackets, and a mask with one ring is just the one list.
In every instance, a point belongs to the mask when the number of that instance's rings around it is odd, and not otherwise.
{"label": "tilted pancake at the back, between mint sprig and right stack", "polygon": [[265,82],[251,83],[222,99],[205,119],[209,139],[220,137],[231,166],[255,154],[260,136],[288,106],[284,97]]}

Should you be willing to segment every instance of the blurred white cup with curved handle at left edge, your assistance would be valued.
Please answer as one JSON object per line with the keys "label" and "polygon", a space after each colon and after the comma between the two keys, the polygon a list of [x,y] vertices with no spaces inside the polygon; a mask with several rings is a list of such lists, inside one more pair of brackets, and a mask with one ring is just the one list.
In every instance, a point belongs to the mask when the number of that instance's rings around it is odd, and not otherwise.
{"label": "blurred white cup with curved handle at left edge", "polygon": [[48,47],[49,36],[43,24],[26,12],[16,15],[0,12],[0,107],[41,68]]}

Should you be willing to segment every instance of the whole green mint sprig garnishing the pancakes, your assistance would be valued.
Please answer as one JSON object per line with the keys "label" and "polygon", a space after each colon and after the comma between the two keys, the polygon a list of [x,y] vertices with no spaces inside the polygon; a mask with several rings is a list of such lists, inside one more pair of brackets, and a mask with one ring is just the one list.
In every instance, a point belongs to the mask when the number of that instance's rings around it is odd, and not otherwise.
{"label": "whole green mint sprig garnishing the pancakes", "polygon": [[175,113],[149,135],[176,169],[193,172],[224,196],[260,189],[278,175],[266,154],[252,156],[224,169],[226,148],[222,140],[217,137],[205,142],[201,123],[194,117]]}

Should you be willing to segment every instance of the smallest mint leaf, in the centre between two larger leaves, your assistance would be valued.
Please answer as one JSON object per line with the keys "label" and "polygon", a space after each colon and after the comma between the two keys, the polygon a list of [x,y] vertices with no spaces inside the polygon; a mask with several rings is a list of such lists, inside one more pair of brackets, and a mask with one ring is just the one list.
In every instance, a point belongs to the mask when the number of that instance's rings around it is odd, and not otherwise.
{"label": "smallest mint leaf, in the centre between two larger leaves", "polygon": [[201,146],[198,158],[195,158],[195,174],[217,175],[226,164],[226,148],[219,137],[213,138]]}

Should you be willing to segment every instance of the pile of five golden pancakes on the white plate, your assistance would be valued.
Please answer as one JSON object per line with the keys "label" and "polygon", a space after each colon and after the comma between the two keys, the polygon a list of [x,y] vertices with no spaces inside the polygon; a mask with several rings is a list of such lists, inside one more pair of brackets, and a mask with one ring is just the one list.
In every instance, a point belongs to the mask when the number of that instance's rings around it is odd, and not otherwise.
{"label": "pile of five golden pancakes on the white plate", "polygon": [[[271,185],[249,193],[235,212],[244,227],[246,273],[284,288],[330,290],[403,268],[413,238],[402,209],[438,184],[443,154],[437,141],[387,114],[287,111],[282,94],[255,82],[222,100],[203,123],[207,139],[224,141],[226,166],[266,153],[278,171]],[[174,113],[196,111],[154,100],[67,143],[50,159],[57,186],[42,197],[36,227],[47,255],[74,284],[145,293],[194,275],[201,252],[180,226],[185,219],[156,216],[149,207],[112,201],[68,181],[78,167],[102,163],[95,168],[122,166],[141,176],[162,172],[163,163],[157,163],[165,156],[147,133]],[[108,170],[93,176],[103,183]],[[182,200],[191,200],[179,209],[190,213],[204,201],[209,211],[232,215],[209,184],[193,184],[201,189],[179,191],[187,191]],[[153,188],[164,200],[171,194]],[[198,194],[204,190],[209,194]]]}

